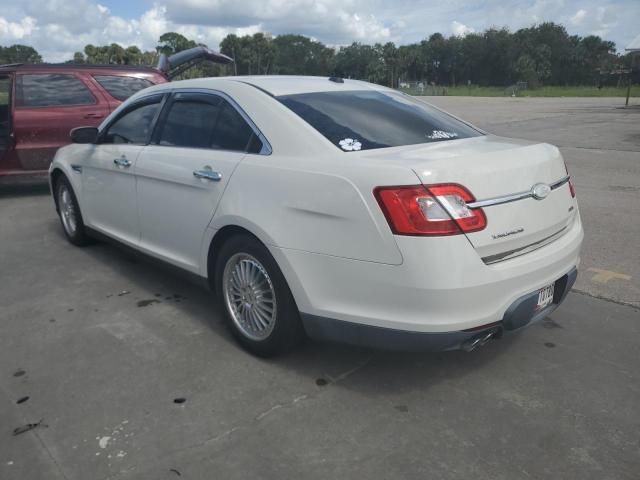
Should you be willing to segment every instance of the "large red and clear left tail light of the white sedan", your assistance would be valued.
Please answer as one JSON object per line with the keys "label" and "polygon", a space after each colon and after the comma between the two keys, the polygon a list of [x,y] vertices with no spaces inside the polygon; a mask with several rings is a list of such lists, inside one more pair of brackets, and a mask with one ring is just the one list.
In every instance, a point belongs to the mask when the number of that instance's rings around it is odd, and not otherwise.
{"label": "large red and clear left tail light of the white sedan", "polygon": [[462,185],[378,187],[374,195],[396,235],[459,235],[483,230],[487,217]]}

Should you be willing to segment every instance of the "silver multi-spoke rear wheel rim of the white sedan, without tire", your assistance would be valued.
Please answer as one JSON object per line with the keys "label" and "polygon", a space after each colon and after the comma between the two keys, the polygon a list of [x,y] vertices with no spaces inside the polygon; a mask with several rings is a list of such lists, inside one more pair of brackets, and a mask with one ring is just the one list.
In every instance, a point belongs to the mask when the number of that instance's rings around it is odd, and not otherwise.
{"label": "silver multi-spoke rear wheel rim of the white sedan, without tire", "polygon": [[251,340],[267,338],[276,323],[276,292],[262,264],[248,253],[236,253],[222,274],[225,306],[240,332]]}

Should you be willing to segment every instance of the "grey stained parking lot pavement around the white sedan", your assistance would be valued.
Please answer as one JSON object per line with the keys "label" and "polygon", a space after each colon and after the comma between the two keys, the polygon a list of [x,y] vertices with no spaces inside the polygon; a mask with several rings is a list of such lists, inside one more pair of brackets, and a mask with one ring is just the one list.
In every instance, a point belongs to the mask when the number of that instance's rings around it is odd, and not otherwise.
{"label": "grey stained parking lot pavement around the white sedan", "polygon": [[586,239],[550,318],[472,353],[309,342],[261,360],[207,291],[70,246],[46,186],[0,187],[0,478],[637,479],[640,111],[431,100],[561,146]]}

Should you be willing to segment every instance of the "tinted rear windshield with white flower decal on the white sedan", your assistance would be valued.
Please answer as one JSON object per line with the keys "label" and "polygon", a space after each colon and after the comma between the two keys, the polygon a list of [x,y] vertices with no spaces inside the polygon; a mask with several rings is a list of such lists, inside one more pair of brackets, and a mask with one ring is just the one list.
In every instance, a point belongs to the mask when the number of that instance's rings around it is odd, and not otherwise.
{"label": "tinted rear windshield with white flower decal on the white sedan", "polygon": [[401,93],[317,92],[276,98],[346,152],[482,135]]}

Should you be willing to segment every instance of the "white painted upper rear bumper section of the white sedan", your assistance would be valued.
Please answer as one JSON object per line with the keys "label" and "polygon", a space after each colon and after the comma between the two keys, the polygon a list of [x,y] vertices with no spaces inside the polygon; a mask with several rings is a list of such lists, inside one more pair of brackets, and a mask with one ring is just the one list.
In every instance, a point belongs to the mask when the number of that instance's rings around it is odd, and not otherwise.
{"label": "white painted upper rear bumper section of the white sedan", "polygon": [[271,247],[299,311],[356,325],[422,333],[474,329],[504,318],[523,296],[580,263],[577,217],[549,245],[485,265],[461,236],[397,237],[401,265],[350,260]]}

